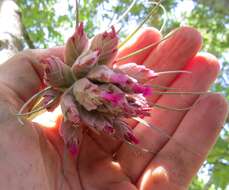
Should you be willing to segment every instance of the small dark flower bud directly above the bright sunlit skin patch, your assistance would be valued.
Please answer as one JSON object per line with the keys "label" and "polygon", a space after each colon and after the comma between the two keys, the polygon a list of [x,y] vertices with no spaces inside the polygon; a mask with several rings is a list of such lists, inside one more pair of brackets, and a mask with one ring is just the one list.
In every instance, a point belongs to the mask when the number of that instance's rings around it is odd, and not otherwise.
{"label": "small dark flower bud directly above the bright sunlit skin patch", "polygon": [[60,103],[61,92],[55,89],[49,89],[43,94],[43,98],[45,108],[47,111],[52,112]]}

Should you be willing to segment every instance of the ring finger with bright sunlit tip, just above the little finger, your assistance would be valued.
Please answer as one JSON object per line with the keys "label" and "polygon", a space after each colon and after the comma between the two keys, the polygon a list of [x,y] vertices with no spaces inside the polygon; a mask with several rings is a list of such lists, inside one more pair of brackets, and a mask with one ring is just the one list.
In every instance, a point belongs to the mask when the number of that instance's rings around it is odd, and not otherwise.
{"label": "ring finger with bright sunlit tip, just above the little finger", "polygon": [[[219,71],[218,61],[209,54],[196,56],[187,67],[192,72],[191,75],[181,75],[171,85],[172,88],[185,89],[187,91],[204,91],[209,88],[215,80]],[[189,107],[198,95],[179,96],[179,95],[163,95],[158,104],[167,105],[170,107]],[[186,112],[177,112],[170,110],[153,109],[151,117],[145,118],[149,123],[163,130],[167,135],[172,135],[184,117]],[[154,129],[144,127],[138,124],[134,133],[140,139],[140,147],[144,147],[155,154],[168,141],[168,137]],[[133,156],[133,150],[128,146],[123,145],[119,151],[119,160],[122,167],[125,168],[128,175],[137,180],[146,165],[153,158],[153,155],[143,154],[141,157]],[[134,166],[134,167],[133,167]]]}

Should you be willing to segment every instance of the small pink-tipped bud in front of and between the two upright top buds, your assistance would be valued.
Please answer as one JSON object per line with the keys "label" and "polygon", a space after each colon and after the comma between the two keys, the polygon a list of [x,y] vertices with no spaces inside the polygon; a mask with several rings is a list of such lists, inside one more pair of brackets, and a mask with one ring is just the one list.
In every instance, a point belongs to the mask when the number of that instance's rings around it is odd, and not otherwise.
{"label": "small pink-tipped bud in front of and between the two upright top buds", "polygon": [[80,55],[72,66],[76,78],[84,77],[97,63],[99,51],[88,51]]}

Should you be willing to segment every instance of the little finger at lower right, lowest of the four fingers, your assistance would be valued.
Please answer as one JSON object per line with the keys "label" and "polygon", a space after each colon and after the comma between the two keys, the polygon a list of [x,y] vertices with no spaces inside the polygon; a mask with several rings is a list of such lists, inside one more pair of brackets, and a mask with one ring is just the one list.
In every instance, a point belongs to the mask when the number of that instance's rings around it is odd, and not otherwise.
{"label": "little finger at lower right, lowest of the four fingers", "polygon": [[[227,112],[227,102],[221,95],[210,94],[200,97],[173,135],[177,142],[192,152],[184,150],[170,140],[147,167],[146,171],[151,175],[143,175],[140,179],[142,189],[187,189],[192,177],[214,145]],[[156,174],[158,167],[163,168],[164,177]]]}

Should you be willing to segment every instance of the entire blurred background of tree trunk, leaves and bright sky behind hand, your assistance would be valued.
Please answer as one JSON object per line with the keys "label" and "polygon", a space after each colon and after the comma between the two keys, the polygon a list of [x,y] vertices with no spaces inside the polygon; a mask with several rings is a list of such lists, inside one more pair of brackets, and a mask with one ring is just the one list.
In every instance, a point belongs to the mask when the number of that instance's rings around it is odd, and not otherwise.
{"label": "entire blurred background of tree trunk, leaves and bright sky behind hand", "polygon": [[[89,36],[115,23],[131,0],[80,0],[80,20]],[[202,51],[217,56],[221,74],[212,91],[229,100],[229,1],[164,0],[167,23],[163,34],[173,28],[190,25],[203,36]],[[117,25],[124,38],[150,12],[150,0],[137,0],[127,16]],[[160,28],[165,19],[161,10],[145,24]],[[73,33],[75,0],[0,0],[0,63],[25,48],[47,48],[62,45]],[[207,137],[206,137],[207,138]],[[229,189],[229,119],[190,190]]]}

